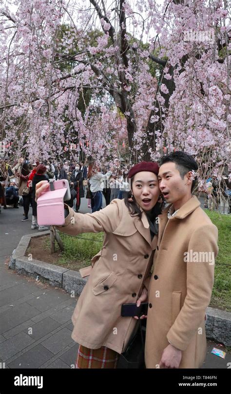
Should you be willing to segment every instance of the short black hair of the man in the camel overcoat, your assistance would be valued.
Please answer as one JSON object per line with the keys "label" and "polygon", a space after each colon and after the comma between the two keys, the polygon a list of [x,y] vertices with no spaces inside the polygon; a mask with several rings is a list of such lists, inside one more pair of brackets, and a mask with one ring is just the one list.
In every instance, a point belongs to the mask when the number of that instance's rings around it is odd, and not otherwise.
{"label": "short black hair of the man in the camel overcoat", "polygon": [[[175,163],[176,168],[178,169],[181,178],[183,179],[185,174],[189,171],[197,171],[198,165],[189,153],[183,152],[182,150],[176,150],[175,152],[171,152],[169,155],[162,156],[160,159],[160,166],[165,163],[173,162]],[[195,187],[196,177],[193,180],[191,191]]]}

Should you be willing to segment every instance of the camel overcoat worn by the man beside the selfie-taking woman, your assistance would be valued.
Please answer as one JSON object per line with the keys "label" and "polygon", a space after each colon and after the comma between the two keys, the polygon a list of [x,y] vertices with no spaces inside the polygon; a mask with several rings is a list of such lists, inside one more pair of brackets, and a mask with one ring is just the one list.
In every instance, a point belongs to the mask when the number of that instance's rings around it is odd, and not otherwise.
{"label": "camel overcoat worn by the man beside the selfie-taking woman", "polygon": [[168,209],[159,215],[145,364],[159,368],[170,342],[182,351],[179,368],[200,368],[206,356],[205,314],[212,293],[218,231],[195,196],[170,219]]}

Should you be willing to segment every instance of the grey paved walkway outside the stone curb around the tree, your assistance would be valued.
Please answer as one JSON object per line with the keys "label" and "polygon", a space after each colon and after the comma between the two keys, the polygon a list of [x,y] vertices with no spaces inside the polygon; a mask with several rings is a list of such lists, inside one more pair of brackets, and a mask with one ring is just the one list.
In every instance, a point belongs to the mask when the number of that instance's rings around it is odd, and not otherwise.
{"label": "grey paved walkway outside the stone curb around the tree", "polygon": [[[80,212],[90,212],[82,199]],[[0,368],[73,368],[78,345],[71,338],[72,313],[77,297],[8,270],[9,256],[20,238],[33,233],[31,221],[22,223],[23,208],[2,209],[0,214]],[[31,208],[29,218],[31,219]],[[227,368],[211,354],[208,342],[204,368]]]}

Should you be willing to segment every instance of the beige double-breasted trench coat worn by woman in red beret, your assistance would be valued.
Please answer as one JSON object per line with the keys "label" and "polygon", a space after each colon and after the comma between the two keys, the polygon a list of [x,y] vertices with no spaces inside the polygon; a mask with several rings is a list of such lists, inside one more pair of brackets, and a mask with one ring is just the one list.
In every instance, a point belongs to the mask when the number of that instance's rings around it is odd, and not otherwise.
{"label": "beige double-breasted trench coat worn by woman in red beret", "polygon": [[64,227],[71,235],[104,231],[102,249],[81,270],[90,274],[72,315],[71,337],[83,346],[106,346],[122,353],[137,328],[133,317],[122,317],[121,305],[135,303],[148,286],[157,235],[151,240],[146,214],[131,215],[124,200],[115,199],[94,213],[76,213],[69,207]]}

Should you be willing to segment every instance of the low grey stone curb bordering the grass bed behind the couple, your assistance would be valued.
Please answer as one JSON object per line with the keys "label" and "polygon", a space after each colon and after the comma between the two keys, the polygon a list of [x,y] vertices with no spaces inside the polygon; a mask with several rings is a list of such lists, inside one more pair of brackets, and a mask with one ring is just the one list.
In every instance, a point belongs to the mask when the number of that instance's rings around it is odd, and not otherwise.
{"label": "low grey stone curb bordering the grass bed behind the couple", "polygon": [[[50,231],[23,235],[18,247],[13,251],[9,269],[37,280],[43,279],[51,286],[64,289],[71,294],[74,291],[75,296],[79,296],[87,283],[87,278],[82,278],[78,271],[66,270],[40,260],[30,260],[30,256],[25,256],[31,238],[46,234],[50,234]],[[206,336],[225,346],[231,346],[231,312],[208,307],[206,313]]]}

